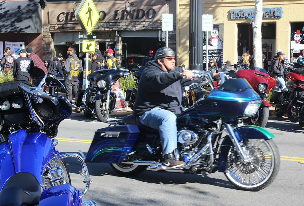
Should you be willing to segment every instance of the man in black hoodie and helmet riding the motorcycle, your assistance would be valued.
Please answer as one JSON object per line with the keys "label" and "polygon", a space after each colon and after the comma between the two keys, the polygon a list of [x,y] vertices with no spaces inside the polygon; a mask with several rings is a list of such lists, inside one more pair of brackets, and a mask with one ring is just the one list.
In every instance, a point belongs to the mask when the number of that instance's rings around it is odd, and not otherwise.
{"label": "man in black hoodie and helmet riding the motorcycle", "polygon": [[[155,58],[147,63],[138,85],[138,95],[134,105],[134,114],[141,124],[158,129],[162,148],[162,168],[173,169],[185,163],[174,158],[177,148],[176,115],[182,107],[182,86],[193,83],[192,71],[182,72],[175,67],[174,51],[162,47],[155,53]],[[212,73],[216,76],[217,73]]]}

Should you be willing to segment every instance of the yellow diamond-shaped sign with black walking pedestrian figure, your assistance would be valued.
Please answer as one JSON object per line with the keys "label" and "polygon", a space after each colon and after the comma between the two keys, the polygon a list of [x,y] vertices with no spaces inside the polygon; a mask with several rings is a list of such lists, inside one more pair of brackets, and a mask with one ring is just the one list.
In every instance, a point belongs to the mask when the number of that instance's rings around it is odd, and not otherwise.
{"label": "yellow diamond-shaped sign with black walking pedestrian figure", "polygon": [[88,34],[92,33],[94,26],[100,18],[93,0],[82,0],[75,11],[75,16],[82,29]]}

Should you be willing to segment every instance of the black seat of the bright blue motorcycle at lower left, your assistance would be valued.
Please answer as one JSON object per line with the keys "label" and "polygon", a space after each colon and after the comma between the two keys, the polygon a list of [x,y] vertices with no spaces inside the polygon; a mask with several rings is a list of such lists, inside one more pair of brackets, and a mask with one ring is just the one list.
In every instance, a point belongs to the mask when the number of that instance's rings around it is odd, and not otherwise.
{"label": "black seat of the bright blue motorcycle at lower left", "polygon": [[41,192],[42,187],[31,173],[16,173],[0,191],[0,206],[37,205]]}

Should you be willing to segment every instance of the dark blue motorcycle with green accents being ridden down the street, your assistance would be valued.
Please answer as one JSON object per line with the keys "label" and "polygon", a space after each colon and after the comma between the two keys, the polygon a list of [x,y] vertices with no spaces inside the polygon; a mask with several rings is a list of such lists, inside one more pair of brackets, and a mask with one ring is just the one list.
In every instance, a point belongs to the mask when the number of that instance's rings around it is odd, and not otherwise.
{"label": "dark blue motorcycle with green accents being ridden down the street", "polygon": [[[212,85],[205,72],[195,75],[200,85]],[[86,162],[110,163],[122,175],[144,170],[204,174],[223,172],[236,187],[259,191],[275,179],[280,155],[274,136],[266,129],[241,125],[242,119],[256,114],[260,96],[244,79],[224,80],[221,86],[177,116],[178,148],[175,158],[185,166],[164,169],[157,130],[142,125],[134,115],[108,122],[98,129]]]}

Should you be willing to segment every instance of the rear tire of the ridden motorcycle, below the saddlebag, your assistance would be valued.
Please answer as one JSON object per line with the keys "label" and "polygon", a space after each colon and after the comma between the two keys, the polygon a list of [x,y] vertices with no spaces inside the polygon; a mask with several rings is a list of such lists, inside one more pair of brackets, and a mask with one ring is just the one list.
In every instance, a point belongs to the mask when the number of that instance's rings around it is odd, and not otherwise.
{"label": "rear tire of the ridden motorcycle, below the saddlebag", "polygon": [[113,170],[123,176],[135,176],[146,170],[147,166],[133,164],[110,164]]}

